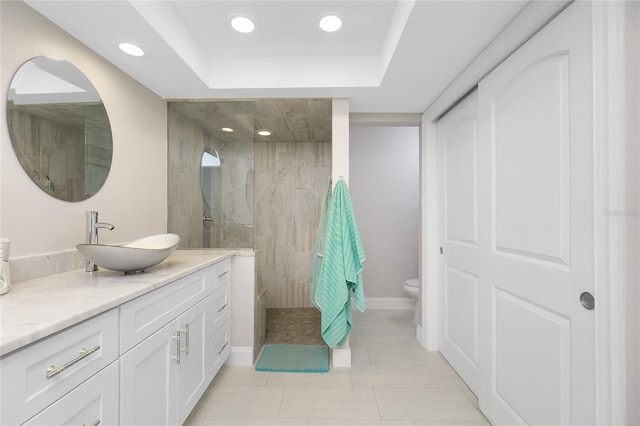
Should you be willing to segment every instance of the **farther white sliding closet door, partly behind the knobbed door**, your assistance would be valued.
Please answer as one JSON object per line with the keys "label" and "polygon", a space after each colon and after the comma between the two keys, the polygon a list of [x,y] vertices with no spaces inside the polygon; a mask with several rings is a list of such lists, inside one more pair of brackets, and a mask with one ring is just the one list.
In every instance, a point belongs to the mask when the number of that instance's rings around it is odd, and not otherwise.
{"label": "farther white sliding closet door, partly behind the knobbed door", "polygon": [[478,95],[438,121],[440,352],[478,393]]}

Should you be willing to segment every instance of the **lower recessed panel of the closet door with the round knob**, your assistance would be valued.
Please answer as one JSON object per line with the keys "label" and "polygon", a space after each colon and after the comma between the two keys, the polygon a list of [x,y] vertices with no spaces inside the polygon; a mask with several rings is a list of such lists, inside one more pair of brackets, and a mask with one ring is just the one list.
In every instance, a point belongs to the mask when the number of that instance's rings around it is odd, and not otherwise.
{"label": "lower recessed panel of the closet door with the round knob", "polygon": [[497,398],[520,423],[569,424],[568,319],[498,289],[493,303]]}

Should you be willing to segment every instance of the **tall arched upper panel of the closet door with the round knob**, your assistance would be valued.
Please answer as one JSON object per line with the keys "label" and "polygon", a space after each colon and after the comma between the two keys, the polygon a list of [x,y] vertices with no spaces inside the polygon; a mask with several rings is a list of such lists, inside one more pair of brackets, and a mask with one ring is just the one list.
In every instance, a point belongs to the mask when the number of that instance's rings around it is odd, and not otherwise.
{"label": "tall arched upper panel of the closet door with the round knob", "polygon": [[495,250],[567,265],[568,53],[534,62],[501,90],[490,124]]}

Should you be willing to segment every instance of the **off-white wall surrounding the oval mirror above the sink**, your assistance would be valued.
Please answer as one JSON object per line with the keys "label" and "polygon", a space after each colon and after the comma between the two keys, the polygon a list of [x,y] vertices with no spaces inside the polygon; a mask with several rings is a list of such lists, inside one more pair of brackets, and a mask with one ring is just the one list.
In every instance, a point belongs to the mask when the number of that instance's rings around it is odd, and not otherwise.
{"label": "off-white wall surrounding the oval mirror above the sink", "polygon": [[[116,226],[101,242],[117,242],[167,226],[166,102],[22,2],[1,2],[0,235],[11,257],[73,250],[85,239],[85,210]],[[77,203],[37,188],[18,162],[6,120],[9,83],[18,68],[40,55],[62,57],[93,82],[109,114],[113,161],[105,185]],[[144,60],[144,59],[143,59]]]}

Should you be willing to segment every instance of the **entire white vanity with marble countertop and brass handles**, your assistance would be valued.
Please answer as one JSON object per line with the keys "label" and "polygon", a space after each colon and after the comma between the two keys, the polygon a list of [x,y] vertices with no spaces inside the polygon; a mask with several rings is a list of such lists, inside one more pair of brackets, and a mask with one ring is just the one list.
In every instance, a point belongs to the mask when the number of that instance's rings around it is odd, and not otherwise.
{"label": "entire white vanity with marble countertop and brass handles", "polygon": [[0,425],[184,423],[231,352],[232,255],[19,283],[0,310]]}

